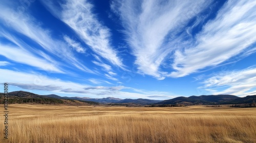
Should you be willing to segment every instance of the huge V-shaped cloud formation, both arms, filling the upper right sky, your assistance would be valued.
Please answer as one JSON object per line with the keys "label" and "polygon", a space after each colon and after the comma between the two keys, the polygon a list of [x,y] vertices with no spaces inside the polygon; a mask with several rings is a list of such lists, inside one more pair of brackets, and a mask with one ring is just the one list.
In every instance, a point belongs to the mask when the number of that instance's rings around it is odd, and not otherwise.
{"label": "huge V-shaped cloud formation, both arms, filling the upper right sky", "polygon": [[[112,1],[111,8],[122,21],[139,73],[161,80],[184,77],[238,54],[244,58],[255,52],[250,47],[256,40],[255,1],[228,1],[216,17],[205,21],[209,13],[201,12],[213,3]],[[202,30],[195,31],[199,25]]]}

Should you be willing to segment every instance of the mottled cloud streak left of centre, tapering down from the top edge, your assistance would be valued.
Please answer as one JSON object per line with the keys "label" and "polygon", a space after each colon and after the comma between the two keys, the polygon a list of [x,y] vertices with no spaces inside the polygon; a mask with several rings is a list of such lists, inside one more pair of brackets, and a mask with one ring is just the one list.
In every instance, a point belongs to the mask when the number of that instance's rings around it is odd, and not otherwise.
{"label": "mottled cloud streak left of centre, tapering down from the top edge", "polygon": [[52,1],[42,1],[50,12],[76,32],[80,39],[102,58],[124,68],[122,59],[111,45],[110,29],[103,26],[93,13],[93,5],[86,0],[70,1],[58,9]]}

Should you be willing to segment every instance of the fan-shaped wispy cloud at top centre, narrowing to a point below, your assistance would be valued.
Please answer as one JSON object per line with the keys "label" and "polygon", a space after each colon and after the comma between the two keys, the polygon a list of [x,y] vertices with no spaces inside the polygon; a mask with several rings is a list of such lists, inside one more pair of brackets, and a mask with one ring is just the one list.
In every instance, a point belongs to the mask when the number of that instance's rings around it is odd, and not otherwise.
{"label": "fan-shaped wispy cloud at top centre, narrowing to a point below", "polygon": [[141,74],[164,79],[159,66],[174,51],[170,35],[177,34],[190,18],[204,10],[211,1],[114,1],[112,10],[119,14],[130,44],[135,64]]}

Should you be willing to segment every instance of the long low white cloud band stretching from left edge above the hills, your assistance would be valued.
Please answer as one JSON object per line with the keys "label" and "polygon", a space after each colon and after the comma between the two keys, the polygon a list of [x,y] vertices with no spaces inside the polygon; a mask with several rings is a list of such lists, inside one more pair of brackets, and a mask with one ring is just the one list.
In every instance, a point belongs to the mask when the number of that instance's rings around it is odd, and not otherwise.
{"label": "long low white cloud band stretching from left edge above the hills", "polygon": [[[24,73],[20,71],[14,71],[10,69],[1,69],[0,68],[0,79],[3,83],[8,83],[9,86],[17,86],[23,89],[32,90],[43,90],[51,91],[50,93],[55,93],[61,96],[61,94],[70,94],[70,96],[80,96],[84,97],[86,93],[87,97],[95,98],[95,96],[103,97],[115,97],[125,99],[127,97],[132,99],[139,98],[154,98],[157,99],[168,99],[172,96],[167,96],[167,92],[160,91],[146,91],[139,90],[131,87],[124,86],[91,86],[87,84],[81,84],[71,81],[60,80],[56,78],[49,78],[38,73]],[[0,83],[2,84],[2,83]],[[122,89],[132,89],[137,90],[135,92],[121,91]],[[154,96],[154,97],[148,97]]]}

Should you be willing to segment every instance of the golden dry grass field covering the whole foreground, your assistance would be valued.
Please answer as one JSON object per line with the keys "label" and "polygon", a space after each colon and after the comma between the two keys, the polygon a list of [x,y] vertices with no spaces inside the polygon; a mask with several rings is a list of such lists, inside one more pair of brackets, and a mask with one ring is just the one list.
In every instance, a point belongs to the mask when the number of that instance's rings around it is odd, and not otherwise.
{"label": "golden dry grass field covering the whole foreground", "polygon": [[[0,142],[256,142],[256,108],[9,105]],[[1,107],[4,114],[4,107]]]}

